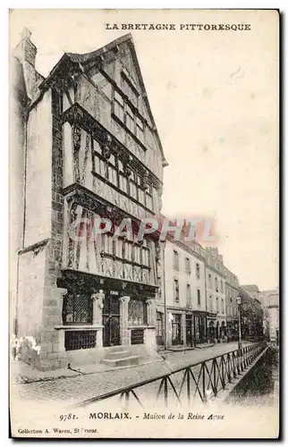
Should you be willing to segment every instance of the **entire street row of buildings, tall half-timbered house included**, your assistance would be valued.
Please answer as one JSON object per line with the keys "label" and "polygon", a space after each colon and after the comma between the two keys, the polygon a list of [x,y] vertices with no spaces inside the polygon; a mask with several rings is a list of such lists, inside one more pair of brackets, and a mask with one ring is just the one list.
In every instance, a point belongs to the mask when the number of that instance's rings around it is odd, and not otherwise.
{"label": "entire street row of buildings, tall half-timbered house included", "polygon": [[[258,297],[216,249],[155,234],[71,228],[105,217],[116,227],[159,216],[164,150],[131,35],[92,53],[65,53],[45,78],[24,30],[13,54],[11,316],[21,358],[40,369],[102,361],[115,346],[157,347],[263,335]],[[13,257],[13,253],[16,256]]]}

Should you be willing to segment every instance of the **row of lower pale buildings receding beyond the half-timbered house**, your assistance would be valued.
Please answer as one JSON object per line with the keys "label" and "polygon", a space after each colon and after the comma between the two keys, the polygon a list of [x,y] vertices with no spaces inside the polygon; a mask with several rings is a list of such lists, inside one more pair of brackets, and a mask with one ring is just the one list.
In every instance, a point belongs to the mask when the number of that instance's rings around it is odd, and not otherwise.
{"label": "row of lower pale buildings receding beyond the half-timbered house", "polygon": [[255,285],[241,286],[216,248],[167,238],[164,257],[165,281],[156,300],[158,345],[236,341],[239,322],[243,340],[269,336],[265,292]]}

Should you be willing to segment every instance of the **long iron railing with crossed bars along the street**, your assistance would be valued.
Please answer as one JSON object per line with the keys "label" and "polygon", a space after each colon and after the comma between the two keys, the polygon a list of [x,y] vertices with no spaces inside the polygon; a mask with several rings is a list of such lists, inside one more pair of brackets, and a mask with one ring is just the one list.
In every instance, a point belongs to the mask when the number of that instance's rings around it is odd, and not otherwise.
{"label": "long iron railing with crossed bars along the street", "polygon": [[164,400],[165,407],[172,401],[177,405],[193,404],[197,400],[207,402],[245,372],[266,346],[266,342],[253,343],[241,350],[225,352],[188,367],[175,369],[169,374],[157,375],[113,392],[106,392],[75,406],[87,406],[114,397],[120,398],[125,408],[131,400],[137,401],[142,408],[145,408],[147,402],[151,406],[159,403],[160,399]]}

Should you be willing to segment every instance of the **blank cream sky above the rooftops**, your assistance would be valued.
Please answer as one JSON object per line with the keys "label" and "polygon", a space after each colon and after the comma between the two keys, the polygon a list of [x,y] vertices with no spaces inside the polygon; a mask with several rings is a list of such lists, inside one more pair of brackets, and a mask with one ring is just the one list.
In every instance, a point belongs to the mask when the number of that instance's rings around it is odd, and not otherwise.
{"label": "blank cream sky above the rooftops", "polygon": [[[106,30],[173,23],[176,30]],[[248,23],[246,31],[179,30]],[[278,285],[278,15],[274,11],[15,10],[47,75],[65,51],[89,53],[131,32],[168,166],[162,212],[209,216],[241,284]]]}

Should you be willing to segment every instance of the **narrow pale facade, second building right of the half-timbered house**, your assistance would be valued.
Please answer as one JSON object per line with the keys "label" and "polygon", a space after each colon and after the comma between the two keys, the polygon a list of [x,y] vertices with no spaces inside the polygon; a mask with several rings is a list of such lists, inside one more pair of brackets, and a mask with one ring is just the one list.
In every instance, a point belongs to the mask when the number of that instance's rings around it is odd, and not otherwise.
{"label": "narrow pale facade, second building right of the half-timbered house", "polygon": [[206,285],[208,302],[208,338],[224,341],[226,337],[226,297],[223,257],[218,249],[206,249]]}

